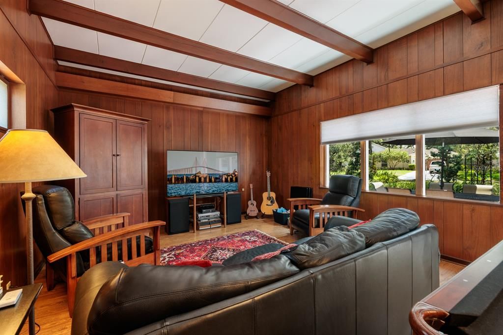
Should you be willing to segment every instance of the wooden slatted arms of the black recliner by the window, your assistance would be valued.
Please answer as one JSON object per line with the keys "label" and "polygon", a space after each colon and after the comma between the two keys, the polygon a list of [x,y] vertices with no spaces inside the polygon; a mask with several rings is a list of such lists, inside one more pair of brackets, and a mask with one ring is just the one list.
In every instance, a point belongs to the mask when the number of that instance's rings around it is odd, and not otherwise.
{"label": "wooden slatted arms of the black recliner by the window", "polygon": [[[354,219],[357,218],[358,212],[365,212],[365,210],[357,207],[351,206],[339,206],[339,205],[320,205],[322,199],[315,198],[290,198],[290,235],[293,235],[294,227],[291,224],[293,222],[293,216],[295,212],[295,207],[297,210],[307,209],[309,210],[309,231],[308,236],[315,236],[321,232],[328,222],[328,219],[332,216],[348,216]],[[318,214],[318,222],[316,224],[316,214]]]}

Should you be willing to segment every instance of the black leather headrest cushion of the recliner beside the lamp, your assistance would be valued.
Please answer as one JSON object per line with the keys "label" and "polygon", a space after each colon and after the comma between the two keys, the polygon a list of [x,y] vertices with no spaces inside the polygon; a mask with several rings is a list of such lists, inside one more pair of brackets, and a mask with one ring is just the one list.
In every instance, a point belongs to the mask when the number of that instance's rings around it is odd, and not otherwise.
{"label": "black leather headrest cushion of the recliner beside the lamp", "polygon": [[56,229],[63,229],[75,220],[75,206],[70,191],[61,186],[41,185],[37,193],[44,197],[49,217]]}

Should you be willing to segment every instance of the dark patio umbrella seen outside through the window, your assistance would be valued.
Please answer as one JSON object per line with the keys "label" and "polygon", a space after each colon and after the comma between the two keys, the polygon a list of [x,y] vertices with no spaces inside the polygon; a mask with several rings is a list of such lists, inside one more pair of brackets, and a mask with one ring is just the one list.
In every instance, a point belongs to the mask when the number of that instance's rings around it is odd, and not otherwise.
{"label": "dark patio umbrella seen outside through the window", "polygon": [[[465,129],[465,130],[452,130],[440,133],[426,134],[426,145],[440,145],[442,147],[446,144],[488,144],[499,142],[499,131],[478,128],[478,129]],[[394,145],[414,145],[415,136],[387,138],[381,144],[394,144]],[[440,170],[440,189],[444,188],[444,150],[442,150],[442,163]]]}

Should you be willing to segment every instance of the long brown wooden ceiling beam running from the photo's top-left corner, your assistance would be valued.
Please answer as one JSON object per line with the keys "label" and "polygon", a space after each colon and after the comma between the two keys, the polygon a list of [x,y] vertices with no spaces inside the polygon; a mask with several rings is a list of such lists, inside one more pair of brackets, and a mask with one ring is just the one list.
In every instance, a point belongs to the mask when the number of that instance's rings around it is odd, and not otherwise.
{"label": "long brown wooden ceiling beam running from the photo's top-left corner", "polygon": [[243,70],[313,86],[313,76],[61,0],[29,0],[31,13],[105,34],[180,52]]}

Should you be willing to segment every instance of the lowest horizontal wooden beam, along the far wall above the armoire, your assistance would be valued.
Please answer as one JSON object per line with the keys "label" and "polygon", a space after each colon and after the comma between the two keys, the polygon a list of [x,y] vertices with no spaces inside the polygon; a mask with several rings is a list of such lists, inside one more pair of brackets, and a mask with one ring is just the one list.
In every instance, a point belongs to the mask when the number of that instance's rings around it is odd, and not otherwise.
{"label": "lowest horizontal wooden beam, along the far wall above the armoire", "polygon": [[159,101],[177,105],[193,106],[230,112],[271,116],[269,107],[243,104],[227,100],[194,96],[186,93],[159,90],[129,83],[105,80],[83,75],[56,72],[56,86],[99,94]]}

